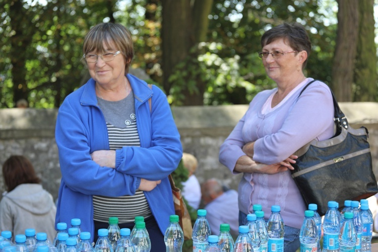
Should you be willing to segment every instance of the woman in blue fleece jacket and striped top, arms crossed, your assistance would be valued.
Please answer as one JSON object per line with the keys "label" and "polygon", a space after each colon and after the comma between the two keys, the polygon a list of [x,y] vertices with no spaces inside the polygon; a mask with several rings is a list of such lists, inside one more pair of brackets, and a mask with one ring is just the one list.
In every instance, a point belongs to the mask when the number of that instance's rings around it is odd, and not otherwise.
{"label": "woman in blue fleece jacket and striped top, arms crossed", "polygon": [[182,157],[166,96],[128,74],[134,49],[122,25],[93,27],[83,52],[92,78],[67,96],[56,120],[62,178],[55,225],[80,218],[96,240],[109,217],[132,229],[135,216],[144,216],[152,251],[164,251],[174,214],[167,176]]}

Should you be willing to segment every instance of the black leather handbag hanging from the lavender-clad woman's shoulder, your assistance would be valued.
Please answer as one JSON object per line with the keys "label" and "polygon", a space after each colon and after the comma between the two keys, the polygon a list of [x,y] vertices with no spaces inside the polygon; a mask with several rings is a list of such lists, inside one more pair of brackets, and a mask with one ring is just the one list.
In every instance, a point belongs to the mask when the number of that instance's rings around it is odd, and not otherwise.
{"label": "black leather handbag hanging from the lavender-clad woman's shoulder", "polygon": [[368,131],[365,127],[350,127],[333,93],[332,97],[335,136],[325,141],[312,140],[299,149],[291,170],[305,204],[317,204],[320,215],[326,214],[329,201],[338,202],[341,209],[345,200],[359,201],[378,193]]}

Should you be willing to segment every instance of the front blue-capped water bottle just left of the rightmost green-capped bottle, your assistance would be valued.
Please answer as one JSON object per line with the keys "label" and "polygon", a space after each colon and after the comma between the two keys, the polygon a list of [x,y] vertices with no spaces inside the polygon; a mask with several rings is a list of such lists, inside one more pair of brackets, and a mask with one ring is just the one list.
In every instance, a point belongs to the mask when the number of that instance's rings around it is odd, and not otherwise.
{"label": "front blue-capped water bottle just left of the rightmost green-capped bottle", "polygon": [[328,209],[324,216],[323,228],[323,252],[339,251],[340,219],[335,201],[328,202]]}

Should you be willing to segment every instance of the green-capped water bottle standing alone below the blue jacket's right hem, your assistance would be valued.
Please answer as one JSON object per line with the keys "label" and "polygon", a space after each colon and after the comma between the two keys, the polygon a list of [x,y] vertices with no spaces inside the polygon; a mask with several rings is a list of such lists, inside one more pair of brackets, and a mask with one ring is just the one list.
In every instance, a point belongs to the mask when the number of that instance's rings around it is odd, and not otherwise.
{"label": "green-capped water bottle standing alone below the blue jacket's right hem", "polygon": [[166,252],[180,252],[184,243],[184,233],[178,224],[178,215],[169,216],[169,222],[164,234]]}

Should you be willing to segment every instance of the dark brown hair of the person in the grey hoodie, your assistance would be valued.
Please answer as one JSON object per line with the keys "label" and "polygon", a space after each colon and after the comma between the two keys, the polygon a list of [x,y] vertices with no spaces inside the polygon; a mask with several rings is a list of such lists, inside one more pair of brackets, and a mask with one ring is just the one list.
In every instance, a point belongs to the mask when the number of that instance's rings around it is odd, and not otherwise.
{"label": "dark brown hair of the person in the grey hoodie", "polygon": [[13,155],[9,157],[3,164],[3,177],[8,192],[11,192],[20,184],[40,183],[33,165],[24,156]]}

